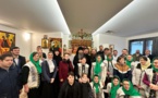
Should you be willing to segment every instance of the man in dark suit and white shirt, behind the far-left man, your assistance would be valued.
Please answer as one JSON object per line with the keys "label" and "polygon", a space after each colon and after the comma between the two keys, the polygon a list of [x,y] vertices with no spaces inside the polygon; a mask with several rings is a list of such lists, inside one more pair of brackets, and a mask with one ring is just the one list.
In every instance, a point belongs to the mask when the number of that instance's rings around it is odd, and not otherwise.
{"label": "man in dark suit and white shirt, behind the far-left man", "polygon": [[11,53],[13,56],[13,62],[16,65],[17,71],[20,73],[23,65],[26,63],[25,57],[20,56],[20,48],[19,47],[11,48]]}

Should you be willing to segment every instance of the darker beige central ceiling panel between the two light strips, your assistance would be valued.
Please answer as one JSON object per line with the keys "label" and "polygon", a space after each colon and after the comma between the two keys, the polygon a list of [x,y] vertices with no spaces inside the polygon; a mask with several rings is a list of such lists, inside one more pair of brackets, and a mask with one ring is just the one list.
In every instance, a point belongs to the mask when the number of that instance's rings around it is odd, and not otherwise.
{"label": "darker beige central ceiling panel between the two light strips", "polygon": [[132,0],[58,0],[71,33],[93,33]]}

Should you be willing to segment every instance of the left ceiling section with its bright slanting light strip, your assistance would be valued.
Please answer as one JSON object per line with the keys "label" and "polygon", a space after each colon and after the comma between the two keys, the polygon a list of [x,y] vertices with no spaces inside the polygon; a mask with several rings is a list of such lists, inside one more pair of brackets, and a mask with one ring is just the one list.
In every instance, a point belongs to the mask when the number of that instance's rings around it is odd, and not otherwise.
{"label": "left ceiling section with its bright slanting light strip", "polygon": [[0,22],[36,33],[70,34],[57,0],[0,0]]}

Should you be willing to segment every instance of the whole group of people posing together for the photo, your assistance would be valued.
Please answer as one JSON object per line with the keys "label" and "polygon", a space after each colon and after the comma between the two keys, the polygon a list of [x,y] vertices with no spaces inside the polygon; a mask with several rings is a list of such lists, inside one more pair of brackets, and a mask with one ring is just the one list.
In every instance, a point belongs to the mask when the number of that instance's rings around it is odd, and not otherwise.
{"label": "whole group of people posing together for the photo", "polygon": [[99,51],[78,47],[42,52],[40,46],[29,60],[20,48],[0,56],[0,98],[158,98],[158,58],[127,49]]}

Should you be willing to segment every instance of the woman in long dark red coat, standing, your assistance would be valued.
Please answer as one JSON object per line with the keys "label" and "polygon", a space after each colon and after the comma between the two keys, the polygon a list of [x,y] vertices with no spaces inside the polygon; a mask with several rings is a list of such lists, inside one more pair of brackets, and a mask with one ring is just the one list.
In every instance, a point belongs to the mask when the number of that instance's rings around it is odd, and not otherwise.
{"label": "woman in long dark red coat, standing", "polygon": [[70,72],[73,72],[73,66],[69,59],[69,53],[64,53],[63,60],[59,63],[59,79],[61,84],[66,79]]}

